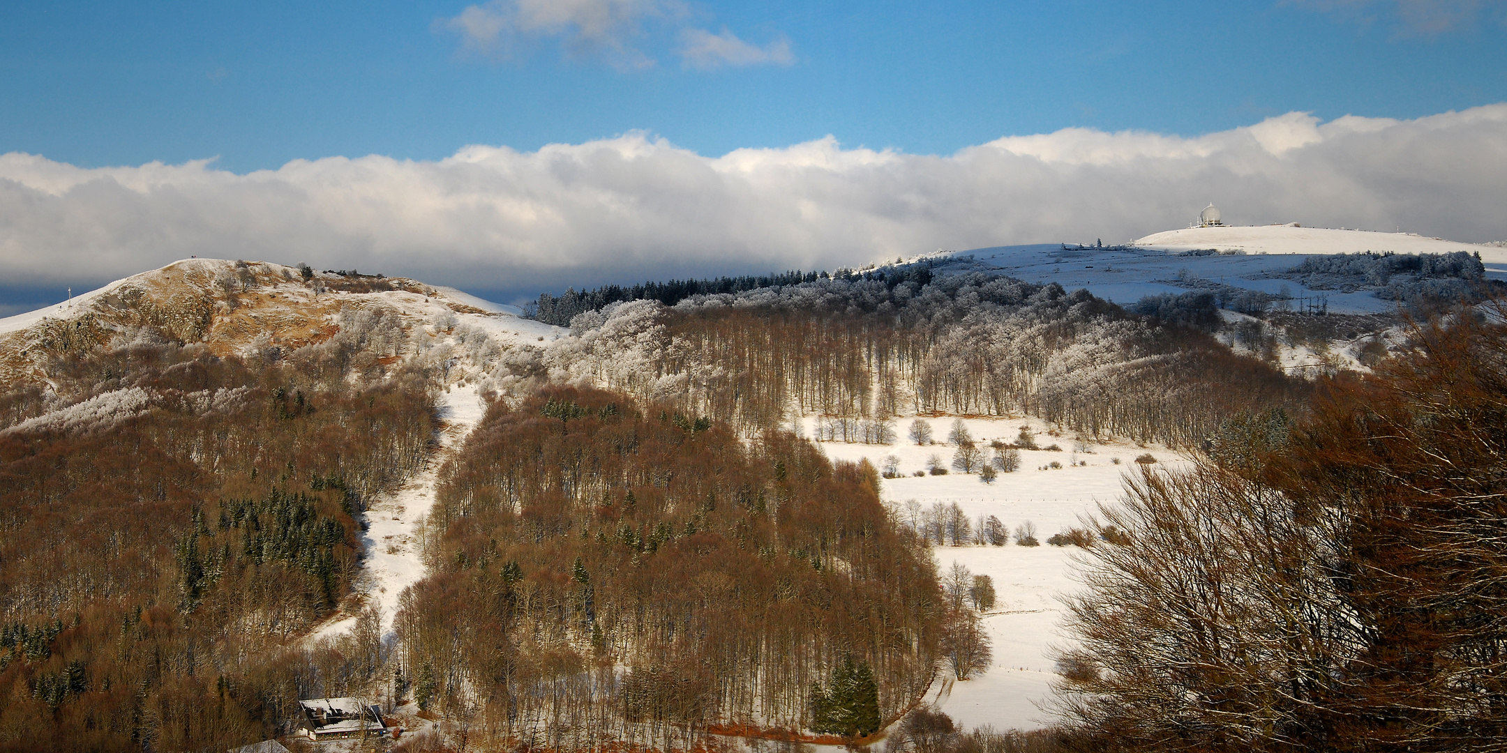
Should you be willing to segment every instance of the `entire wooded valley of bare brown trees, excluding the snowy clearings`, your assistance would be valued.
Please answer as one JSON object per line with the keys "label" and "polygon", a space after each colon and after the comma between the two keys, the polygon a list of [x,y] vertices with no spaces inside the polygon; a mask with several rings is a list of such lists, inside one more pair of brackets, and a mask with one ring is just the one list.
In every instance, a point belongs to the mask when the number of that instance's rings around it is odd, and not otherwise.
{"label": "entire wooded valley of bare brown trees, excluding the snowy clearings", "polygon": [[[924,264],[553,300],[579,310],[552,340],[310,270],[261,285],[351,288],[319,327],[211,351],[193,333],[243,306],[216,297],[252,306],[246,276],[194,298],[193,331],[44,321],[45,378],[0,395],[0,748],[225,750],[326,696],[411,700],[488,750],[1507,739],[1499,306],[1414,322],[1370,375],[1305,380],[1172,313]],[[461,384],[485,416],[437,453]],[[996,587],[931,547],[1035,530],[886,505],[895,467],[800,434],[919,446],[930,425],[897,419],[928,416],[1198,458],[1127,464],[1124,500],[1047,539],[1087,568],[1061,727],[969,732],[922,703],[990,666]],[[952,434],[954,470],[986,483],[1056,449]],[[425,468],[425,577],[384,616],[368,506]]]}

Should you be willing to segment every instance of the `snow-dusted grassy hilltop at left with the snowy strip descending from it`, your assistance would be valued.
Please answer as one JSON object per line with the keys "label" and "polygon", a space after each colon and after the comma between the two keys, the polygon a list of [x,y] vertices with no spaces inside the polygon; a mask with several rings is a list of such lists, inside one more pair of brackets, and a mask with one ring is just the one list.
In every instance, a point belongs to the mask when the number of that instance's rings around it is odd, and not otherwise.
{"label": "snow-dusted grassy hilltop at left with the snowy strip descending from it", "polygon": [[[0,319],[0,384],[50,384],[48,360],[69,349],[130,342],[143,336],[170,336],[202,343],[216,354],[255,354],[268,348],[291,351],[341,336],[342,327],[387,316],[402,333],[387,345],[395,358],[422,358],[445,364],[437,369],[440,431],[428,467],[371,501],[366,514],[362,566],[357,589],[363,605],[383,614],[383,630],[392,626],[398,595],[425,574],[419,530],[434,501],[439,467],[458,447],[485,413],[475,384],[467,378],[482,372],[499,349],[543,345],[555,327],[523,319],[503,306],[452,288],[428,286],[408,279],[371,279],[304,271],[270,262],[184,259],[99,289],[75,295],[63,304]],[[197,401],[199,410],[214,410],[238,395],[173,396]],[[244,392],[244,390],[241,390]],[[169,398],[142,387],[119,389],[83,401],[53,396],[47,413],[5,429],[109,428]],[[313,639],[344,633],[353,623],[338,614],[315,631]]]}

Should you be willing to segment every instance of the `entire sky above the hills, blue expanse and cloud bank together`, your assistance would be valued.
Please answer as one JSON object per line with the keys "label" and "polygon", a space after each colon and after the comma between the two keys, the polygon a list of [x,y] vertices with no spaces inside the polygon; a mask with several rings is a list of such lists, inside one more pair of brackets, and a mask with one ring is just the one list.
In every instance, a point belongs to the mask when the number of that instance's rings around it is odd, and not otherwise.
{"label": "entire sky above the hills, blue expanse and cloud bank together", "polygon": [[190,255],[515,301],[1207,202],[1507,239],[1507,0],[0,3],[0,315]]}

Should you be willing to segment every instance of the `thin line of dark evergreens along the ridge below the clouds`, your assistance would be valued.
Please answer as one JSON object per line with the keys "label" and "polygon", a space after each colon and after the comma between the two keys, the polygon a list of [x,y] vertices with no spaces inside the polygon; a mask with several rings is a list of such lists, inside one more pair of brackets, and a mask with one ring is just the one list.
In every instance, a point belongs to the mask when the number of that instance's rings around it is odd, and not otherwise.
{"label": "thin line of dark evergreens along the ridge below the clouds", "polygon": [[880,270],[850,271],[838,270],[835,274],[788,271],[781,274],[716,277],[707,280],[668,280],[645,282],[631,288],[621,285],[604,285],[594,291],[576,292],[574,288],[564,295],[540,294],[540,300],[529,303],[523,315],[546,324],[565,327],[580,313],[595,312],[613,303],[622,301],[659,301],[665,306],[675,306],[695,295],[720,295],[757,291],[760,288],[779,288],[785,285],[814,283],[829,279],[868,279],[883,280],[891,288],[907,280],[925,285],[931,280],[931,268],[927,264],[904,267],[885,267]]}

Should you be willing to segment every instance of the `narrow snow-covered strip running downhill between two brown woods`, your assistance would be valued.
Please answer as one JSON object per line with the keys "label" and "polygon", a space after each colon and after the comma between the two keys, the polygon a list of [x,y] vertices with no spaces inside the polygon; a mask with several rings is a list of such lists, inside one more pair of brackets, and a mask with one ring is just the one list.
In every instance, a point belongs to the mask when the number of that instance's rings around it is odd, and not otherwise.
{"label": "narrow snow-covered strip running downhill between two brown woods", "polygon": [[[357,593],[366,607],[381,610],[381,631],[392,633],[398,611],[398,595],[425,575],[420,530],[434,506],[440,467],[466,441],[487,413],[475,386],[455,387],[440,395],[440,444],[423,471],[408,479],[398,491],[383,494],[366,511],[366,532],[362,533],[362,574],[356,580]],[[354,616],[339,616],[315,628],[310,642],[335,637],[351,630]]]}

